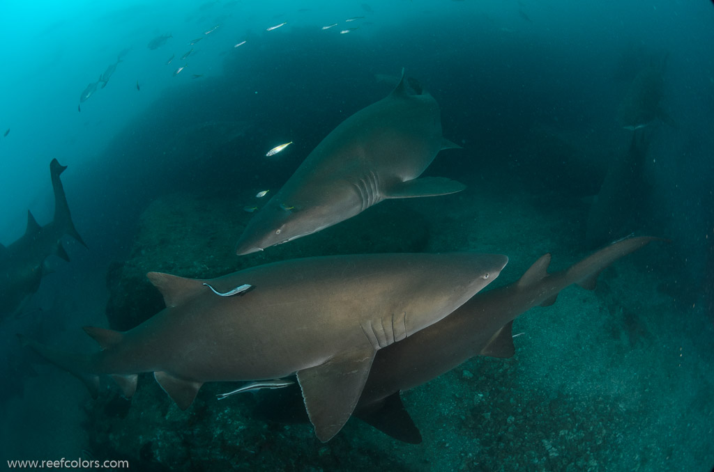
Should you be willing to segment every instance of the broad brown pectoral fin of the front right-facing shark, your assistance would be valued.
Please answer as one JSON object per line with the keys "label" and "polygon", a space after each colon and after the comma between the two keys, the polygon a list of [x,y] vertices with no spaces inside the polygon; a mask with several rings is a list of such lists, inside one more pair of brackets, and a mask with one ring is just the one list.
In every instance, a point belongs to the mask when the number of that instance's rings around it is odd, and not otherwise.
{"label": "broad brown pectoral fin of the front right-facing shark", "polygon": [[350,418],[367,381],[374,354],[370,345],[298,371],[305,408],[320,441],[329,441]]}

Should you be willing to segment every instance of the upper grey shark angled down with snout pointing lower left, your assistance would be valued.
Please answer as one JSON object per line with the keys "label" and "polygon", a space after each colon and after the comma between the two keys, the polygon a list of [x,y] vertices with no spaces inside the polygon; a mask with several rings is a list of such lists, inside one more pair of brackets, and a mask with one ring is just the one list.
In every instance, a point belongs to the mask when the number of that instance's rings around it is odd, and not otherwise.
{"label": "upper grey shark angled down with snout pointing lower left", "polygon": [[401,81],[386,98],[343,121],[256,212],[236,246],[250,254],[347,220],[386,198],[446,195],[464,185],[418,178],[439,150],[458,148],[441,135],[436,100]]}

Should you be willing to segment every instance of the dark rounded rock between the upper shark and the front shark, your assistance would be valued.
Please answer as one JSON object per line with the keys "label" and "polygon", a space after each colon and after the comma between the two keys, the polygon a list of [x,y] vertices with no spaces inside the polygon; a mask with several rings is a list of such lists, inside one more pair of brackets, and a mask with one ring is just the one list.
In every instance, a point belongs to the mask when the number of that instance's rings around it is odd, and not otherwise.
{"label": "dark rounded rock between the upper shark and the front shark", "polygon": [[[246,267],[317,255],[366,252],[422,252],[429,224],[408,202],[388,202],[315,235],[246,256],[233,255],[236,235],[250,213],[243,205],[188,194],[160,197],[144,210],[126,262],[107,272],[106,317],[112,329],[125,331],[164,308],[146,272],[212,278]],[[226,220],[226,215],[231,217]],[[237,222],[237,225],[236,225]]]}

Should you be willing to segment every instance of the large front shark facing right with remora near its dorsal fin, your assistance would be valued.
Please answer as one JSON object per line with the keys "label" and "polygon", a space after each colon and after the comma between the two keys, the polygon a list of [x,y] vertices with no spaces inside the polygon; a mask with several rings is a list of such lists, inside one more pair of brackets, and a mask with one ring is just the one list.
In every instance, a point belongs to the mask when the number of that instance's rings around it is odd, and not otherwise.
{"label": "large front shark facing right with remora near its dorsal fin", "polygon": [[166,309],[128,332],[85,327],[100,352],[21,340],[93,394],[99,374],[131,397],[137,374],[154,372],[181,409],[209,381],[296,373],[316,436],[328,441],[351,416],[376,352],[446,317],[507,262],[475,253],[342,255],[209,280],[150,272]]}

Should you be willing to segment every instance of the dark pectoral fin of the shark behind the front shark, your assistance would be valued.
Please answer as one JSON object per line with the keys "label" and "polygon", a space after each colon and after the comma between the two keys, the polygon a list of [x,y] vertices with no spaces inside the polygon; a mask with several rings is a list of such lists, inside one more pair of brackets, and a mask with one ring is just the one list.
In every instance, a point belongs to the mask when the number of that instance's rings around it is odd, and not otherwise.
{"label": "dark pectoral fin of the shark behind the front shark", "polygon": [[410,444],[421,443],[421,433],[409,416],[398,391],[378,405],[355,411],[362,421],[399,441]]}

